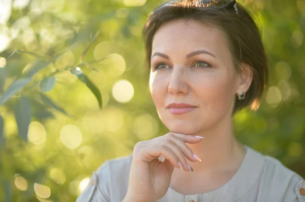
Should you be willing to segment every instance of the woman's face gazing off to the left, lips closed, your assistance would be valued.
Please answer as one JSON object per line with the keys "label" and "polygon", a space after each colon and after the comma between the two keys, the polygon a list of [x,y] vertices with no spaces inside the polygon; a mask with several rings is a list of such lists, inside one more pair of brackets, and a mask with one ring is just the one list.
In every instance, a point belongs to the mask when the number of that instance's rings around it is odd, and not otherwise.
{"label": "woman's face gazing off to the left, lips closed", "polygon": [[[195,20],[172,21],[157,30],[149,88],[170,131],[200,133],[231,118],[238,77],[221,30]],[[177,105],[168,107],[171,103]]]}

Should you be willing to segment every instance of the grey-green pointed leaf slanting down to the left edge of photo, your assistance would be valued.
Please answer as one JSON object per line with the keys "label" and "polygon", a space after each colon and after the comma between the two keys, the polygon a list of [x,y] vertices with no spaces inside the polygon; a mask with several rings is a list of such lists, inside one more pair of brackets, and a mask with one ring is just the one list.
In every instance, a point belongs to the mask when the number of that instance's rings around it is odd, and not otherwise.
{"label": "grey-green pointed leaf slanting down to the left edge of photo", "polygon": [[13,95],[15,95],[22,87],[28,84],[31,78],[19,78],[15,80],[8,89],[2,94],[0,98],[0,105],[3,105],[7,100],[9,100]]}

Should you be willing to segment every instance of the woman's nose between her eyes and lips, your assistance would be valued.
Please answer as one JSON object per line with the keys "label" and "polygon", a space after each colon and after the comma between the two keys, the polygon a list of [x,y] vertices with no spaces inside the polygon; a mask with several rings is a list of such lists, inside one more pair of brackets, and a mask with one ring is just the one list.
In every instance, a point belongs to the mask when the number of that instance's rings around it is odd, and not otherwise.
{"label": "woman's nose between her eyes and lips", "polygon": [[173,68],[169,76],[168,92],[174,95],[189,92],[187,75],[183,68]]}

